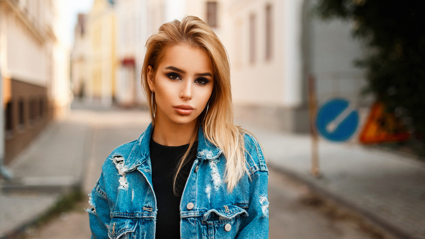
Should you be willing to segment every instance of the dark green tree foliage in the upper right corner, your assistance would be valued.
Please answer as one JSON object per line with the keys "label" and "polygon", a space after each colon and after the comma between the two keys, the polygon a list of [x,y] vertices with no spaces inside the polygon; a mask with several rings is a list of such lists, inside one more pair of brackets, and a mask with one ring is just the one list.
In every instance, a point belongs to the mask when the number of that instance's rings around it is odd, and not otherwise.
{"label": "dark green tree foliage in the upper right corner", "polygon": [[425,142],[425,0],[319,0],[317,9],[323,19],[353,20],[354,37],[371,49],[357,61],[367,90]]}

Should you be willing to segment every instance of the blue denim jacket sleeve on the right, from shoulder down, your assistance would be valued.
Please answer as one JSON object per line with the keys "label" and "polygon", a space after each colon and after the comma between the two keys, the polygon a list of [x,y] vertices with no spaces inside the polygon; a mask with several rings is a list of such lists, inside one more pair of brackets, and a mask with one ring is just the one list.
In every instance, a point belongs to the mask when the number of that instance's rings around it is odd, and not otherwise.
{"label": "blue denim jacket sleeve on the right, from shoulder down", "polygon": [[242,219],[242,228],[236,238],[269,238],[269,200],[267,185],[269,171],[258,142],[252,137],[245,139],[246,160],[249,165],[249,208],[248,216]]}

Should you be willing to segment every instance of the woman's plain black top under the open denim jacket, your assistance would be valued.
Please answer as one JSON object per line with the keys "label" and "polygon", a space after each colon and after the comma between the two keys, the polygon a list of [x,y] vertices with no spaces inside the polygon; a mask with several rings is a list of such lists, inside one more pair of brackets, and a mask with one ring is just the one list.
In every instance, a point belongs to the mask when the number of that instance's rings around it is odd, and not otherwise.
{"label": "woman's plain black top under the open denim jacket", "polygon": [[176,180],[178,196],[173,192],[173,177],[178,161],[189,145],[164,146],[150,139],[150,161],[152,164],[152,186],[155,191],[158,214],[156,215],[156,239],[180,239],[180,199],[196,158],[198,142],[189,154]]}

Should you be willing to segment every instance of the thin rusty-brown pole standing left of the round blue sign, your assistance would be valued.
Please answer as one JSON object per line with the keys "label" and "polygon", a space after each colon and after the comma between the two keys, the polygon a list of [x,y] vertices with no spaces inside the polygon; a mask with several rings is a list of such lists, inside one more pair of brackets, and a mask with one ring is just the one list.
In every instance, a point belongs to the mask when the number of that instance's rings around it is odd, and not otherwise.
{"label": "thin rusty-brown pole standing left of the round blue sign", "polygon": [[313,75],[309,75],[309,118],[310,118],[310,135],[312,137],[312,169],[311,173],[315,177],[320,177],[319,169],[319,150],[318,150],[318,137],[317,131],[315,130],[315,114],[317,110],[316,100],[316,79]]}

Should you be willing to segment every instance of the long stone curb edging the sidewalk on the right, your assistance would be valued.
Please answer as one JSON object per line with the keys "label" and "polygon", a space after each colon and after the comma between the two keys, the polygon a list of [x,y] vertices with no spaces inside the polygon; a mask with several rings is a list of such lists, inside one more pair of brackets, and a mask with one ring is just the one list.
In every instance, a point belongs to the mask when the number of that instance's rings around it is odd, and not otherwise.
{"label": "long stone curb edging the sidewalk on the right", "polygon": [[349,200],[344,199],[342,196],[338,196],[335,193],[332,193],[325,187],[317,185],[311,179],[306,178],[306,176],[303,176],[302,174],[283,168],[282,166],[278,166],[271,162],[268,162],[268,164],[271,167],[275,168],[277,171],[280,171],[283,174],[286,174],[294,179],[299,180],[300,182],[303,182],[315,193],[318,193],[321,196],[330,198],[334,200],[335,202],[337,202],[338,204],[343,205],[346,208],[349,208],[353,211],[360,213],[361,216],[364,216],[370,222],[379,226],[383,230],[386,230],[388,233],[390,233],[392,236],[396,237],[397,239],[424,239],[423,237],[412,236],[410,233],[406,232],[402,228],[399,228],[398,226],[394,225],[394,223],[388,222],[388,220],[380,218],[380,216],[378,216],[376,213],[368,209],[365,209],[361,207],[360,205],[356,205],[350,202]]}

